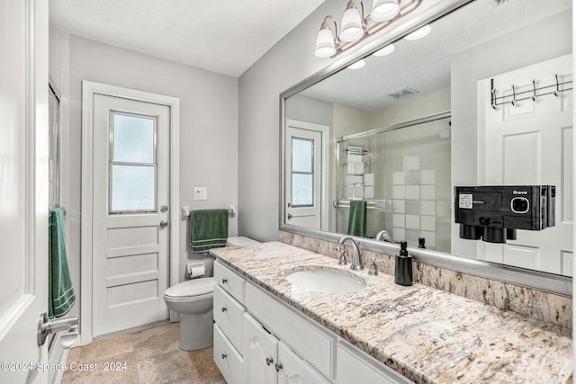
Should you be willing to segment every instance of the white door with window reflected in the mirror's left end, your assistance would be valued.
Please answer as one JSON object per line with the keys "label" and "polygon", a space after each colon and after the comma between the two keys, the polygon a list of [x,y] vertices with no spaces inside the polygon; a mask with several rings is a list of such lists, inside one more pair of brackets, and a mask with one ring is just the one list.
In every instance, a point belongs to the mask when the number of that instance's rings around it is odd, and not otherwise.
{"label": "white door with window reflected in the mirror's left end", "polygon": [[327,229],[328,127],[301,121],[286,124],[285,223]]}

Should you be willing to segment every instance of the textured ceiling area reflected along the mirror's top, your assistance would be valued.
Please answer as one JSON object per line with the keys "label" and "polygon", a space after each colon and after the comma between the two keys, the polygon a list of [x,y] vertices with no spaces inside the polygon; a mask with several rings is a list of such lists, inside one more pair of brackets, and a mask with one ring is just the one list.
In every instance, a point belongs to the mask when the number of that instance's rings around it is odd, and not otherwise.
{"label": "textured ceiling area reflected along the mirror's top", "polygon": [[476,0],[434,22],[427,37],[399,40],[392,55],[366,58],[362,69],[343,69],[302,94],[365,111],[389,107],[415,97],[399,101],[386,96],[406,86],[421,94],[450,86],[455,53],[571,8],[572,0],[508,0],[500,5]]}

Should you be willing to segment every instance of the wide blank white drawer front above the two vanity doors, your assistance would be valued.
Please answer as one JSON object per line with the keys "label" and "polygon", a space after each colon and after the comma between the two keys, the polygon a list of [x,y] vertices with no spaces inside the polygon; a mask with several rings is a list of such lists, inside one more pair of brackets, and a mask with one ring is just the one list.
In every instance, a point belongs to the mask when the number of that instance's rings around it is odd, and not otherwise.
{"label": "wide blank white drawer front above the two vanity doors", "polygon": [[246,307],[281,342],[290,345],[294,353],[327,378],[334,379],[336,335],[250,283],[246,285]]}

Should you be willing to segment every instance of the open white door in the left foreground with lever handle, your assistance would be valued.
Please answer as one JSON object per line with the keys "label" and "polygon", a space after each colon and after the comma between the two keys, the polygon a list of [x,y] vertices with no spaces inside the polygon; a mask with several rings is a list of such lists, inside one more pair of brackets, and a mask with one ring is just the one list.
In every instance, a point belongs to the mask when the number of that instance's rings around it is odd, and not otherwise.
{"label": "open white door in the left foreground with lever handle", "polygon": [[48,308],[48,2],[0,2],[0,382],[37,371]]}

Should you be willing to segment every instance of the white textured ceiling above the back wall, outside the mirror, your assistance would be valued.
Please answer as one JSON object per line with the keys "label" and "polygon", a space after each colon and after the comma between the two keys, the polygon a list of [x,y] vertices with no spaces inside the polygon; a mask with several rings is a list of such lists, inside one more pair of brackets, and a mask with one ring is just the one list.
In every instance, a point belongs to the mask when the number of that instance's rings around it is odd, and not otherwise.
{"label": "white textured ceiling above the back wall, outside the mirror", "polygon": [[324,0],[49,0],[50,28],[238,77]]}

